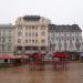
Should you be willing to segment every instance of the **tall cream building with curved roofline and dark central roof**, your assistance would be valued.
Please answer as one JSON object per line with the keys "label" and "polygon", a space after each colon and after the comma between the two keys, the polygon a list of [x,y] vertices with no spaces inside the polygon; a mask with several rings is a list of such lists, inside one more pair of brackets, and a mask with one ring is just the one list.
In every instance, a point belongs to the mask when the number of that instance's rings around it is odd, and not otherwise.
{"label": "tall cream building with curved roofline and dark central roof", "polygon": [[48,51],[49,19],[40,15],[19,17],[15,21],[15,49],[17,54],[31,54]]}

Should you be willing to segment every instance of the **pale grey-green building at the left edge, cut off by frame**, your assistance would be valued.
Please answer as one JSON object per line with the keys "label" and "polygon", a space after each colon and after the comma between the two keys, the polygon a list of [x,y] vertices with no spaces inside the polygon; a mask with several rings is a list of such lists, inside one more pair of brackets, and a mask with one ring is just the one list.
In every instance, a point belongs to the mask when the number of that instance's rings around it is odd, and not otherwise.
{"label": "pale grey-green building at the left edge, cut off by frame", "polygon": [[14,25],[0,24],[0,54],[13,54]]}

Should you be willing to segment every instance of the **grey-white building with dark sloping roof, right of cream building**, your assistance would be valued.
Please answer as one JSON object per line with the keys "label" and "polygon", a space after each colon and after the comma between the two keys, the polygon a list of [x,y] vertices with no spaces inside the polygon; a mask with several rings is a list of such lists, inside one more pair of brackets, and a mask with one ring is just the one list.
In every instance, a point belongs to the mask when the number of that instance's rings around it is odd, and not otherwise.
{"label": "grey-white building with dark sloping roof, right of cream building", "polygon": [[49,25],[49,50],[53,52],[82,52],[82,30],[77,24]]}

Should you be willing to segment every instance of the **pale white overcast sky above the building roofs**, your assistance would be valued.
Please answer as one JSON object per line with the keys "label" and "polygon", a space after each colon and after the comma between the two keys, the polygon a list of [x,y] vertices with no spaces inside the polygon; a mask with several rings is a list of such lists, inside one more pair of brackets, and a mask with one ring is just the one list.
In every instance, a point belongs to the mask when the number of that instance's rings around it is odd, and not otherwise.
{"label": "pale white overcast sky above the building roofs", "polygon": [[83,0],[0,0],[0,23],[14,23],[25,14],[42,15],[55,24],[77,23],[82,29]]}

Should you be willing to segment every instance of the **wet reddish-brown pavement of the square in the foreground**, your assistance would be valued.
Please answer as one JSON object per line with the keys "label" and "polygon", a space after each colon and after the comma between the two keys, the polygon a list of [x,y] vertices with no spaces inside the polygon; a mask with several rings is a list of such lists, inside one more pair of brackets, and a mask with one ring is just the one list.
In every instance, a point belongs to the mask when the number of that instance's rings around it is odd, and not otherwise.
{"label": "wet reddish-brown pavement of the square in the foreground", "polygon": [[83,83],[83,63],[72,62],[68,71],[52,69],[31,71],[28,65],[0,69],[0,83]]}

